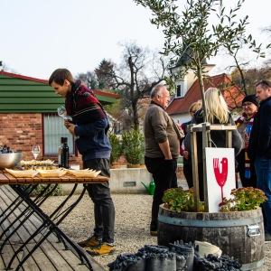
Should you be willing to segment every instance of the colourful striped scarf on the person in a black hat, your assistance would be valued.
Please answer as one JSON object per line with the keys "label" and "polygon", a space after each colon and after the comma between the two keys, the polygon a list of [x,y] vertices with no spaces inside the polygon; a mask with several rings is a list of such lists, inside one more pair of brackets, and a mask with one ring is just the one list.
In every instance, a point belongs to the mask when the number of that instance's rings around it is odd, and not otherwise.
{"label": "colourful striped scarf on the person in a black hat", "polygon": [[[249,137],[250,137],[250,132],[251,128],[253,126],[253,121],[256,116],[257,112],[253,114],[253,116],[250,118],[248,122],[248,126],[246,127],[246,132],[245,132],[245,178],[250,178],[250,161],[248,158],[248,142],[249,142]],[[236,126],[240,126],[243,122],[245,117],[247,117],[247,114],[244,112],[241,117],[238,118],[236,121]]]}

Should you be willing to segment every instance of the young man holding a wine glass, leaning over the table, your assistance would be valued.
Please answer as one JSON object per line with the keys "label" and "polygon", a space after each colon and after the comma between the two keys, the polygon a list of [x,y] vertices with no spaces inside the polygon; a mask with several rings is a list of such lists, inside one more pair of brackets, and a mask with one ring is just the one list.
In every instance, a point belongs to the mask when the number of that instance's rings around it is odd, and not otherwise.
{"label": "young man holding a wine glass, leaning over the table", "polygon": [[[65,119],[64,125],[71,135],[76,136],[76,145],[82,155],[83,167],[101,171],[109,177],[109,157],[111,145],[107,137],[108,121],[105,111],[80,80],[74,81],[70,70],[54,70],[49,85],[57,95],[65,98],[67,114],[72,120]],[[79,242],[87,247],[92,256],[113,254],[115,207],[107,183],[87,184],[89,197],[94,202],[94,235]]]}

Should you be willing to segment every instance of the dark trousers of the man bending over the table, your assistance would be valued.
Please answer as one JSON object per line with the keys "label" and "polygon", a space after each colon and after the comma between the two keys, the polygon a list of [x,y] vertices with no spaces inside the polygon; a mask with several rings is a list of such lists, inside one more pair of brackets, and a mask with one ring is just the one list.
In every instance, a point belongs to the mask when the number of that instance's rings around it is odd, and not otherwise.
{"label": "dark trousers of the man bending over the table", "polygon": [[[109,159],[98,158],[83,162],[84,169],[101,171],[100,175],[110,177]],[[103,242],[114,242],[115,206],[111,198],[108,182],[86,184],[90,199],[94,202],[94,236]]]}

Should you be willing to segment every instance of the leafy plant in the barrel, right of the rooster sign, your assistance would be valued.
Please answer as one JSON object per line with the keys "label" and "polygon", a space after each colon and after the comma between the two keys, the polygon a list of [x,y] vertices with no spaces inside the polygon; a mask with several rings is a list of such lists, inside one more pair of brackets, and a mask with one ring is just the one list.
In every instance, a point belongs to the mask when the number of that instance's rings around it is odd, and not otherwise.
{"label": "leafy plant in the barrel, right of the rooster sign", "polygon": [[267,200],[265,192],[254,187],[233,189],[232,198],[224,198],[220,203],[220,211],[255,210]]}

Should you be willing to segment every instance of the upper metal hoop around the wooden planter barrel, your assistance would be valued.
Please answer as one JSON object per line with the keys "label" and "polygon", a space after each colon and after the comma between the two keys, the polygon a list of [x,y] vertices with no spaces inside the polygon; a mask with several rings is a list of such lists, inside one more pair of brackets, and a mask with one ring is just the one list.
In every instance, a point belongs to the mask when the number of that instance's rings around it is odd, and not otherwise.
{"label": "upper metal hoop around the wooden planter barrel", "polygon": [[201,227],[201,228],[226,228],[226,227],[228,228],[261,223],[263,221],[263,217],[259,216],[257,218],[250,219],[242,218],[240,220],[190,220],[190,219],[170,218],[159,213],[158,221],[178,226]]}

